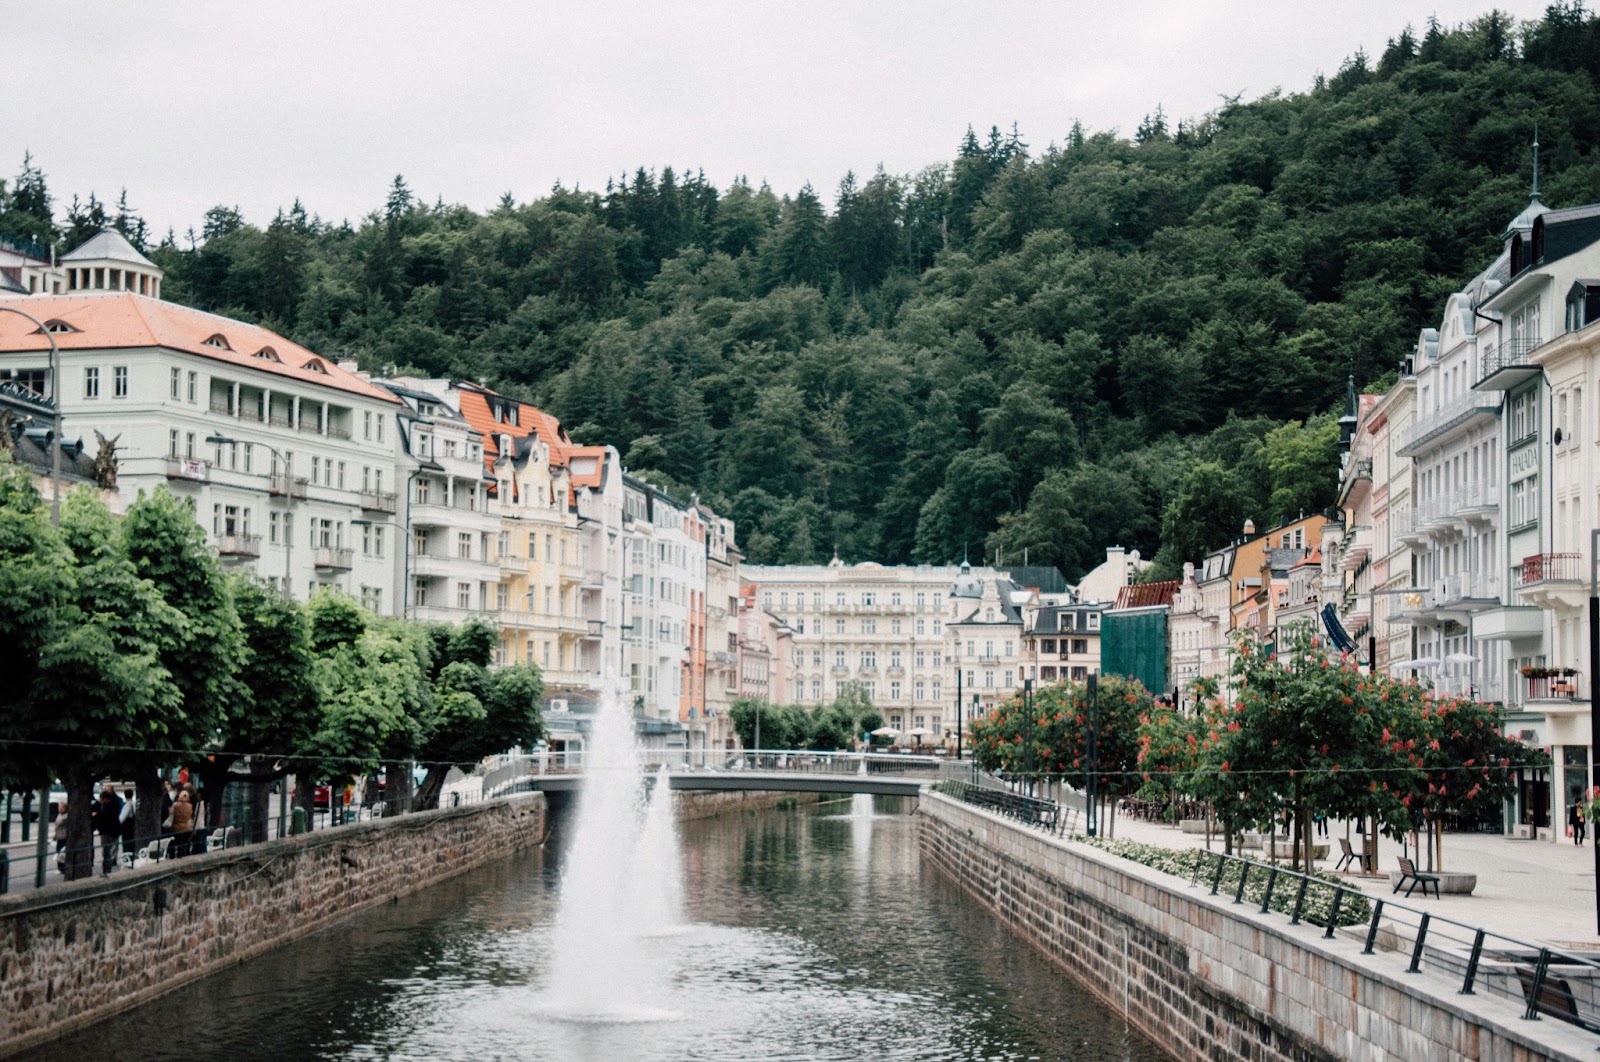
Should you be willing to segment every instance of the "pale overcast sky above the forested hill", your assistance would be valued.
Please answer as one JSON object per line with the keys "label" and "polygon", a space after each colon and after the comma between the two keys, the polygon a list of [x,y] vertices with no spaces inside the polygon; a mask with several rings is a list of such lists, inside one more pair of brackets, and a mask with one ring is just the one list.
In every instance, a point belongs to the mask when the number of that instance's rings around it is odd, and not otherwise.
{"label": "pale overcast sky above the forested hill", "polygon": [[[1501,0],[1536,18],[1547,0]],[[403,173],[485,208],[555,181],[702,168],[832,202],[846,170],[950,158],[968,125],[1034,147],[1080,118],[1131,133],[1222,96],[1299,91],[1406,22],[1490,0],[674,0],[18,3],[0,173],[30,150],[58,206],[118,189],[155,232],[296,195],[358,219]]]}

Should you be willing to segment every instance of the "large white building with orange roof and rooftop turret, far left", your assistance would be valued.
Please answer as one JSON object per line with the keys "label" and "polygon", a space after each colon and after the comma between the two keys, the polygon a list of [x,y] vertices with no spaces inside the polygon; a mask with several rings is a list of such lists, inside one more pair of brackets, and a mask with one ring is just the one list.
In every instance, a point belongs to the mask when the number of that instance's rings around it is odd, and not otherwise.
{"label": "large white building with orange roof and rooftop turret, far left", "polygon": [[[355,521],[384,504],[363,481],[394,481],[400,401],[264,328],[136,294],[160,270],[96,240],[98,258],[69,256],[86,288],[14,302],[61,349],[67,433],[115,441],[125,501],[163,485],[189,499],[226,563],[298,600],[365,587],[395,614],[400,550],[358,550]],[[54,398],[48,366],[48,337],[0,315],[0,374]]]}

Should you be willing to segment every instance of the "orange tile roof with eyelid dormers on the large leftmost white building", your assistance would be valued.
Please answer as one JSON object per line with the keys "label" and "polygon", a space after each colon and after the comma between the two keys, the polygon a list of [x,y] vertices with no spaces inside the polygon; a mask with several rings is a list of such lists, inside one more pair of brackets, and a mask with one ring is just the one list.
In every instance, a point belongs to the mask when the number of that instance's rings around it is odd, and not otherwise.
{"label": "orange tile roof with eyelid dormers on the large leftmost white building", "polygon": [[[75,331],[54,333],[62,350],[120,347],[166,347],[213,361],[226,361],[304,384],[333,387],[363,398],[395,403],[390,392],[371,384],[334,361],[307,350],[259,325],[246,325],[176,302],[163,302],[131,291],[102,294],[35,294],[18,299],[16,307],[42,321],[61,320]],[[221,336],[230,349],[206,341]],[[269,349],[277,360],[256,357]],[[0,352],[48,350],[50,341],[24,317],[0,313]],[[317,365],[323,371],[306,368]]]}

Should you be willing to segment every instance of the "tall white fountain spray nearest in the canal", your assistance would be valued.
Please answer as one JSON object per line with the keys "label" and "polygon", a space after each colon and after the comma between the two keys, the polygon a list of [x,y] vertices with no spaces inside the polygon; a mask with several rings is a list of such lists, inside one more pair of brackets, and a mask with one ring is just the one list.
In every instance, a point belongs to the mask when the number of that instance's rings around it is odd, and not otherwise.
{"label": "tall white fountain spray nearest in the canal", "polygon": [[[584,782],[565,854],[552,934],[547,1009],[578,1022],[670,1017],[656,1004],[661,964],[646,955],[635,881],[659,873],[640,860],[643,769],[622,697],[600,701],[584,755]],[[675,832],[667,843],[675,844]],[[674,876],[677,851],[674,848]],[[674,880],[674,886],[677,881]]]}

